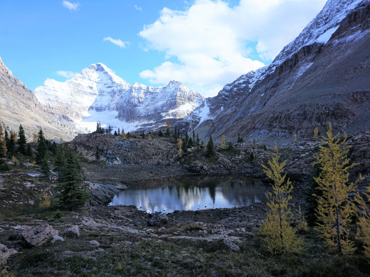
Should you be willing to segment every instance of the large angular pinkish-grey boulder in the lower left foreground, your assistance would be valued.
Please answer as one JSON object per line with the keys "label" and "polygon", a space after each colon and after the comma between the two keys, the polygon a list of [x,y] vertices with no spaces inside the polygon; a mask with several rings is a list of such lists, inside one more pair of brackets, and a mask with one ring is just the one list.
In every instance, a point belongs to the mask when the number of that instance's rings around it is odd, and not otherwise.
{"label": "large angular pinkish-grey boulder in the lower left foreground", "polygon": [[25,246],[35,247],[47,242],[49,237],[58,236],[58,234],[59,232],[54,230],[53,227],[48,224],[43,224],[25,229],[19,234],[19,237]]}

